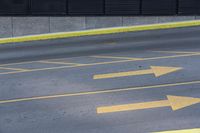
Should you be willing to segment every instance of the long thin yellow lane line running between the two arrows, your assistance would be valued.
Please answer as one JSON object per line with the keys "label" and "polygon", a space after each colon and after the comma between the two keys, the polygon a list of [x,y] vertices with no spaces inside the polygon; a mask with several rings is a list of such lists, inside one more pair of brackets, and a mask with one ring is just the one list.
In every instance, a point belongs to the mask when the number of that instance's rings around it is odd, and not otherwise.
{"label": "long thin yellow lane line running between the two arrows", "polygon": [[200,80],[199,81],[191,81],[191,82],[180,82],[180,83],[161,84],[161,85],[152,85],[152,86],[122,88],[122,89],[109,89],[109,90],[78,92],[78,93],[64,93],[64,94],[49,95],[49,96],[35,96],[35,97],[27,97],[27,98],[8,99],[8,100],[0,100],[0,104],[33,101],[33,100],[43,100],[43,99],[54,99],[54,98],[61,98],[61,97],[117,93],[117,92],[133,91],[133,90],[155,89],[155,88],[174,87],[174,86],[192,85],[192,84],[200,84]]}

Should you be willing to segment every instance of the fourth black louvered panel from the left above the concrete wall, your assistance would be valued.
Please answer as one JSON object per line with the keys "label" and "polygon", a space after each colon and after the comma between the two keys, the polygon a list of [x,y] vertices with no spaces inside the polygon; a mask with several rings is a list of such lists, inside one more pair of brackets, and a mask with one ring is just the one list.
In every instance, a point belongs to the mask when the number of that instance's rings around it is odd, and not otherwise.
{"label": "fourth black louvered panel from the left above the concrete wall", "polygon": [[139,15],[140,0],[105,0],[108,15]]}

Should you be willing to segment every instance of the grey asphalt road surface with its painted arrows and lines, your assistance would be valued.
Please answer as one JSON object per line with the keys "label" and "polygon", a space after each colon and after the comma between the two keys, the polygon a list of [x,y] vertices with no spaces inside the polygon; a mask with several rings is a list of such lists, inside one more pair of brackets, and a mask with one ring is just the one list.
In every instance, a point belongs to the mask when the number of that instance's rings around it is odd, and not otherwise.
{"label": "grey asphalt road surface with its painted arrows and lines", "polygon": [[200,27],[0,46],[0,133],[199,128]]}

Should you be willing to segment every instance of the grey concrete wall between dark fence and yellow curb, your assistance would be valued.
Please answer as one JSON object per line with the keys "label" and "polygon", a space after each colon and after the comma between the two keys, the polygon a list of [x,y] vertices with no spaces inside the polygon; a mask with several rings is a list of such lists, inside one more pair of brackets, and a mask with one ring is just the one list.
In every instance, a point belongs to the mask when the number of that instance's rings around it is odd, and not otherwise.
{"label": "grey concrete wall between dark fence and yellow curb", "polygon": [[0,38],[195,19],[200,17],[0,17]]}

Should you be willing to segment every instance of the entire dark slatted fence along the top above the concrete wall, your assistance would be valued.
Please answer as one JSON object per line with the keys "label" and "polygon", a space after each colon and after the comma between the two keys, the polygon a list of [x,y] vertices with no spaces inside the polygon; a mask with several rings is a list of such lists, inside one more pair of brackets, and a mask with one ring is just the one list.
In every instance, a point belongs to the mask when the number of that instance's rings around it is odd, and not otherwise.
{"label": "entire dark slatted fence along the top above the concrete wall", "polygon": [[0,15],[198,15],[200,0],[0,0]]}

